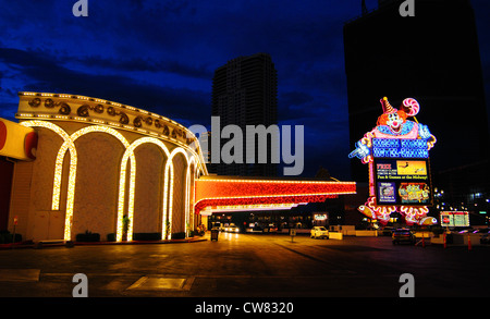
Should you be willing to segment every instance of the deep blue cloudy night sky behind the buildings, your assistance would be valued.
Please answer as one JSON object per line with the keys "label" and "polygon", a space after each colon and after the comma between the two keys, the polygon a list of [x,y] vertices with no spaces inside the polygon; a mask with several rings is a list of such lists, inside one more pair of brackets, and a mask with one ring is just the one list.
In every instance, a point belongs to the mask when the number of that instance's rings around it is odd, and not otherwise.
{"label": "deep blue cloudy night sky behind the buildings", "polygon": [[[215,70],[267,52],[278,70],[279,124],[305,127],[303,175],[322,165],[350,180],[342,28],[360,15],[360,0],[88,0],[88,17],[72,14],[75,2],[0,0],[0,118],[16,121],[25,90],[209,126]],[[490,1],[471,3],[489,105]],[[373,10],[377,0],[366,4]]]}

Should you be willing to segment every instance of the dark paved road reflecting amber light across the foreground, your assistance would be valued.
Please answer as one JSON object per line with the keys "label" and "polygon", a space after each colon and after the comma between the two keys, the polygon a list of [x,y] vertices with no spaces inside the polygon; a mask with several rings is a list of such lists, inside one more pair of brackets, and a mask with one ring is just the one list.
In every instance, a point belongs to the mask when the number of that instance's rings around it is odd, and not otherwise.
{"label": "dark paved road reflecting amber light across the foreground", "polygon": [[228,234],[181,244],[0,250],[1,297],[416,297],[490,296],[490,247],[392,245],[390,237],[314,240]]}

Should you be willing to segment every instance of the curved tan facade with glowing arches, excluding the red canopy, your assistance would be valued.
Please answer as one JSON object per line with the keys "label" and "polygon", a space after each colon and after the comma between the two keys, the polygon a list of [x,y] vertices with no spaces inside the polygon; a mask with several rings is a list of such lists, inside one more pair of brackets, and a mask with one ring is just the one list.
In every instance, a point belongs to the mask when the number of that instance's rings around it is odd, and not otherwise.
{"label": "curved tan facade with glowing arches, excluding the red canopy", "polygon": [[[11,217],[25,238],[194,230],[194,184],[207,175],[196,137],[145,110],[73,95],[21,93],[16,118],[38,134],[36,160],[17,162]],[[30,179],[26,183],[26,179]]]}

